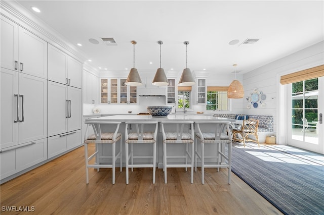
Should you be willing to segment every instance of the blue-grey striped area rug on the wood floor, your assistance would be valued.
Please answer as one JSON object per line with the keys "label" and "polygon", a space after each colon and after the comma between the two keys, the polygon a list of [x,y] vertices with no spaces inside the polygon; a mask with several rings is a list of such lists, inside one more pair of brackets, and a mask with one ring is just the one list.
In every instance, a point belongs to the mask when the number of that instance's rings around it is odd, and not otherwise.
{"label": "blue-grey striped area rug on the wood floor", "polygon": [[324,156],[290,146],[233,143],[232,172],[284,214],[324,214]]}

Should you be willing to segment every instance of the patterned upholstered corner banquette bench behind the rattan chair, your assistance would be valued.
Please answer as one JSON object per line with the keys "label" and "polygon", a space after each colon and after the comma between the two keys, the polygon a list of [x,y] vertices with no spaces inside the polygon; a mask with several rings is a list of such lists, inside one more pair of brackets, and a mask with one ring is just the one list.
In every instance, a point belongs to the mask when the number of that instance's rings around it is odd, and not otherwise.
{"label": "patterned upholstered corner banquette bench behind the rattan chair", "polygon": [[244,114],[214,114],[215,117],[243,120],[244,118],[259,120],[258,137],[260,143],[265,143],[266,136],[273,135],[273,116]]}

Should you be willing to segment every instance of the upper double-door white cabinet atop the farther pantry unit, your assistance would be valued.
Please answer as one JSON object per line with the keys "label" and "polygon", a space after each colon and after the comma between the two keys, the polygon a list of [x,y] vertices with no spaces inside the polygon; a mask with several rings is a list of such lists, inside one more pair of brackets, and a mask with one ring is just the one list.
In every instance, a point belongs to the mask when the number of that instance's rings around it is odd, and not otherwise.
{"label": "upper double-door white cabinet atop the farther pantry unit", "polygon": [[48,80],[82,88],[82,63],[48,44]]}

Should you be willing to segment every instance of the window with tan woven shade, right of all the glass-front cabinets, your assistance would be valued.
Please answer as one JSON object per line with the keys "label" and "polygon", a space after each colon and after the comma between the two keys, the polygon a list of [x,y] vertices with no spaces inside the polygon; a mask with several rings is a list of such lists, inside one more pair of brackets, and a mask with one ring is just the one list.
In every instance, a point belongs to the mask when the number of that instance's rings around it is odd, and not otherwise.
{"label": "window with tan woven shade, right of all the glass-front cabinets", "polygon": [[207,111],[229,111],[228,87],[207,87]]}

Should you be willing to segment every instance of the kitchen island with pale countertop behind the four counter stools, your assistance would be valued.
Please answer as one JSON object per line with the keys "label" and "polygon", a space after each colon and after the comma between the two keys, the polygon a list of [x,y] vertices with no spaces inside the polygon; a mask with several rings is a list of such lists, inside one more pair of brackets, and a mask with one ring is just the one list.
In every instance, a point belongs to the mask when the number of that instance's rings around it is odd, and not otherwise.
{"label": "kitchen island with pale countertop behind the four counter stools", "polygon": [[[86,122],[89,121],[99,121],[99,122],[112,122],[112,121],[117,121],[117,122],[122,122],[122,124],[119,127],[119,132],[121,134],[123,134],[123,145],[122,147],[124,148],[124,144],[125,144],[125,122],[128,121],[133,121],[133,122],[137,122],[137,121],[157,121],[157,122],[163,122],[163,121],[176,121],[176,122],[181,122],[181,121],[193,121],[193,122],[206,122],[206,121],[229,121],[229,122],[235,122],[234,119],[227,119],[227,118],[221,118],[221,117],[213,117],[211,115],[169,115],[168,117],[152,117],[150,115],[113,115],[113,116],[105,116],[105,117],[97,117],[97,118],[90,118],[90,119],[86,119]],[[134,129],[134,128],[128,128],[128,129]],[[149,128],[148,128],[149,129]],[[188,132],[191,129],[190,126],[185,128]],[[214,132],[211,128],[210,130],[211,132]],[[109,128],[109,126],[104,126],[102,132],[112,132],[112,130]],[[92,129],[89,129],[89,132],[87,135],[93,133]],[[156,157],[157,157],[157,167],[158,168],[163,168],[163,137],[162,137],[162,133],[160,131],[160,129],[158,130],[158,135],[157,135],[157,149],[156,149]],[[210,148],[206,148],[207,152],[213,152],[216,150],[215,145],[209,145],[207,147]],[[145,144],[140,145],[139,147],[137,147],[138,151],[135,153],[141,153],[143,155],[145,154],[151,154],[151,148],[148,148]],[[100,154],[101,155],[108,155],[111,153],[111,146],[110,145],[100,145],[99,146],[99,150],[100,150]],[[119,145],[116,145],[116,150],[119,150]],[[179,151],[184,151],[184,149],[182,148],[182,145],[176,146],[174,147],[174,150],[177,151],[177,153]],[[125,150],[123,150],[123,157],[125,157]],[[144,159],[144,158],[143,158]],[[102,158],[99,159],[100,163],[110,163],[111,161],[108,160],[107,158]],[[146,162],[146,160],[138,160],[138,163],[141,162]],[[176,160],[175,160],[176,162]],[[134,160],[135,163],[135,160]],[[123,164],[125,165],[125,160],[123,160]],[[117,164],[116,164],[117,165]],[[124,166],[123,165],[123,166]]]}

